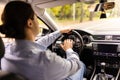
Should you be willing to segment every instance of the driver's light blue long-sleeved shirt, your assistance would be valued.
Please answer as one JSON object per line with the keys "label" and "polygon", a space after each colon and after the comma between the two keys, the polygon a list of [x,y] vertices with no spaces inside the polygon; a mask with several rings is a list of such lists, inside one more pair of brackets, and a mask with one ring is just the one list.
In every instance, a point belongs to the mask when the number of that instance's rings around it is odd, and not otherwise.
{"label": "driver's light blue long-sleeved shirt", "polygon": [[80,69],[79,57],[68,49],[67,59],[47,50],[61,33],[56,31],[37,42],[16,40],[6,48],[2,70],[21,74],[29,80],[63,80]]}

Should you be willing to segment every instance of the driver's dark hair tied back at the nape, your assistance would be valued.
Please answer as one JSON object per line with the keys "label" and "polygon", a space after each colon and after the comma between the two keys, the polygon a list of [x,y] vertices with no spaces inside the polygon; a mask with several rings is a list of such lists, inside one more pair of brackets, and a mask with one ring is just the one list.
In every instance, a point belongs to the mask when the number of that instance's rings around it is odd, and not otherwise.
{"label": "driver's dark hair tied back at the nape", "polygon": [[2,13],[0,32],[9,38],[24,39],[28,19],[34,19],[31,5],[23,1],[11,1]]}

